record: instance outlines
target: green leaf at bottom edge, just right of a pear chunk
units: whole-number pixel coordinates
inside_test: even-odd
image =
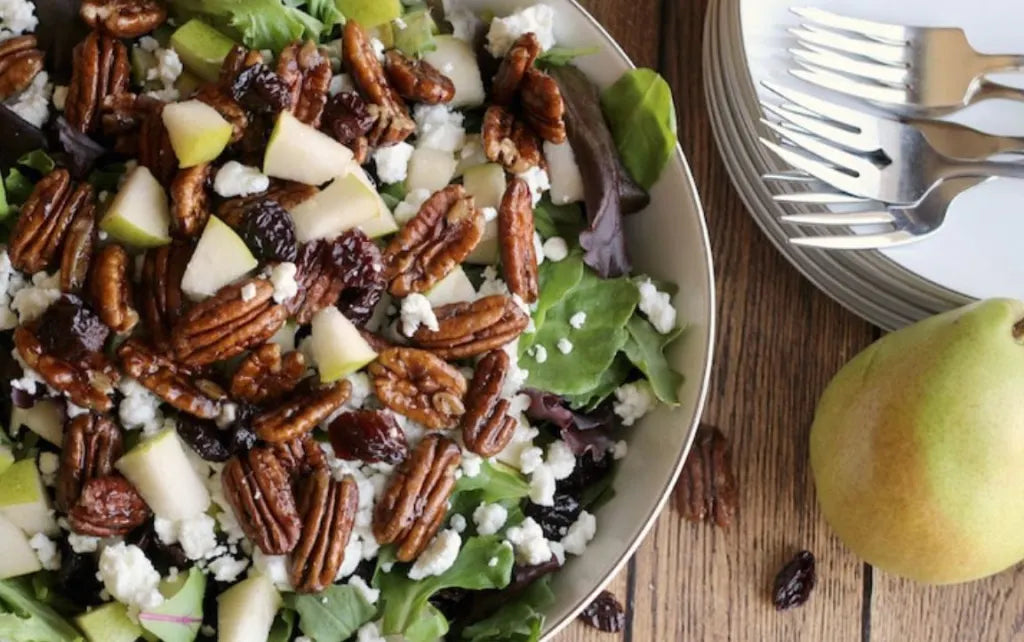
[[[362,594],[348,585],[333,585],[318,595],[289,594],[285,605],[299,613],[302,635],[317,642],[342,642],[377,614]]]

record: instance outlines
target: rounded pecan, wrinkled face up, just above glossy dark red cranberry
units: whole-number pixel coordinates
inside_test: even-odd
[[[370,376],[381,403],[427,428],[451,428],[466,412],[465,377],[425,350],[385,350],[370,365]]]

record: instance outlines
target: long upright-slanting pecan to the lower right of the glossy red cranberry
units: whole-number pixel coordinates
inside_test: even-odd
[[[433,433],[420,441],[391,478],[374,509],[373,528],[381,545],[398,545],[398,561],[419,557],[437,532],[461,461],[459,444]]]

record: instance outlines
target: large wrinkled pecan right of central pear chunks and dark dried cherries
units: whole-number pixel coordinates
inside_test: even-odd
[[[469,256],[483,237],[483,214],[462,185],[427,199],[384,251],[384,276],[396,297],[426,292]]]

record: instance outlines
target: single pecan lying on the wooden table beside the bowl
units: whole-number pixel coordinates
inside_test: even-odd
[[[714,521],[721,528],[736,513],[736,478],[729,441],[718,428],[701,425],[676,487],[679,510],[690,521]]]

